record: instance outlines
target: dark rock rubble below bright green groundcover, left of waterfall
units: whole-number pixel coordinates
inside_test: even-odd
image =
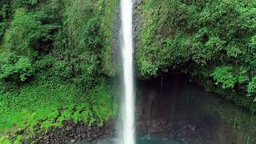
[[[54,128],[46,133],[38,132],[34,138],[30,138],[28,142],[24,143],[76,143],[94,142],[104,138],[111,138],[114,136],[114,122],[106,122],[104,126],[87,126],[83,122],[75,124],[72,121],[65,122],[60,128]]]

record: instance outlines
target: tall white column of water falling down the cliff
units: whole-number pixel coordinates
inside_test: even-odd
[[[122,103],[122,143],[134,144],[134,66],[133,0],[122,0],[122,66],[124,99]]]

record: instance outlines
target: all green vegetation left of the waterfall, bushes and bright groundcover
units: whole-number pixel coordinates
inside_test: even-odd
[[[29,139],[36,126],[46,131],[68,119],[102,126],[115,115],[106,75],[114,75],[116,5],[1,0],[0,143]]]

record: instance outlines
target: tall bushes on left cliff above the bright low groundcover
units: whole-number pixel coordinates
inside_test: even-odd
[[[95,78],[101,74],[114,75],[110,39],[113,39],[116,1],[2,3],[1,14],[6,21],[1,22],[1,30],[8,28],[2,32],[1,52],[14,53],[22,59],[27,57],[36,72],[44,73],[45,78],[72,79],[80,88],[94,86]],[[7,8],[11,9],[8,13],[12,14],[11,18],[6,16]],[[3,73],[10,76],[8,71]]]

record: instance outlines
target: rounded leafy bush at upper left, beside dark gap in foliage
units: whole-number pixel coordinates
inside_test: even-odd
[[[4,46],[15,54],[34,56],[33,52],[39,48],[37,43],[40,39],[46,41],[52,28],[42,25],[39,21],[41,17],[40,13],[29,13],[24,9],[18,9],[10,23],[10,29],[5,34]]]

